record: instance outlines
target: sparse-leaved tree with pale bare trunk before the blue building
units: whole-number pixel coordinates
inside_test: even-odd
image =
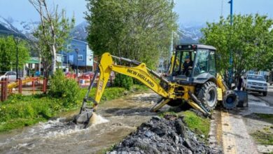
[[[57,52],[64,48],[64,43],[69,39],[75,19],[66,18],[65,10],[59,13],[58,6],[53,6],[50,11],[46,0],[29,0],[41,18],[41,25],[34,31],[38,38],[38,50],[45,69],[45,76],[56,70]]]

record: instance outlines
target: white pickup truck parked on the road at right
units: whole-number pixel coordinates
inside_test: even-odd
[[[267,95],[267,82],[264,76],[249,74],[244,77],[243,90],[259,92],[263,96]]]

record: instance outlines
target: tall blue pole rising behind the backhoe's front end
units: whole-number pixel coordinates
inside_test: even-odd
[[[230,41],[232,39],[232,16],[233,16],[233,0],[230,0],[228,3],[230,3]],[[230,76],[229,76],[229,85],[231,87],[232,84],[232,76],[233,76],[233,59],[232,59],[232,48],[230,45]]]

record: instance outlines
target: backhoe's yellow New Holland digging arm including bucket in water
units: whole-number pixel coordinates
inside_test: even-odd
[[[113,62],[113,58],[123,60],[130,64],[134,64],[135,66],[122,66],[115,64]],[[136,78],[141,83],[149,87],[151,90],[165,98],[166,100],[174,99],[174,85],[173,83],[169,83],[168,80],[160,76],[155,71],[148,69],[146,64],[137,62],[131,59],[126,59],[123,57],[116,57],[111,55],[109,52],[106,52],[102,55],[102,58],[99,62],[98,69],[94,74],[92,82],[90,83],[90,87],[88,88],[87,93],[85,94],[85,98],[83,99],[83,104],[80,109],[80,113],[75,117],[74,122],[76,124],[84,125],[87,127],[92,114],[97,109],[97,105],[102,99],[102,94],[105,90],[105,87],[108,83],[108,80],[111,75],[111,71],[115,71],[116,73],[122,73],[126,76],[131,76],[132,78]],[[92,86],[94,85],[94,80],[99,73],[99,80],[97,81],[97,91],[95,92],[94,99],[92,97],[88,97]],[[166,91],[160,83],[158,83],[158,78],[160,81],[167,83],[168,91]],[[87,102],[92,102],[92,106],[87,106]],[[167,102],[167,101],[165,101]]]

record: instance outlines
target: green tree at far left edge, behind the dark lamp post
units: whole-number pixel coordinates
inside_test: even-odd
[[[18,38],[20,39],[20,38]],[[29,45],[27,41],[18,41],[18,67],[22,69],[23,64],[29,60]],[[0,37],[0,70],[9,71],[16,68],[16,43],[13,36]]]

